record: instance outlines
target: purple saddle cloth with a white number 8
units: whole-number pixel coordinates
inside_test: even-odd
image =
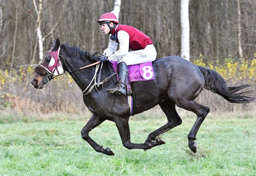
[[[110,63],[114,69],[114,72],[117,72],[118,71],[118,62],[111,61]],[[136,65],[129,65],[127,67],[129,70],[129,73],[128,73],[129,84],[133,81],[155,79],[152,62],[146,62],[146,63],[136,64]],[[119,79],[119,77],[118,77],[118,79]]]

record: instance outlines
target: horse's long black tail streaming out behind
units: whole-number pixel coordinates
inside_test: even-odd
[[[217,93],[227,101],[231,103],[249,103],[256,99],[255,91],[248,90],[238,92],[241,89],[252,87],[252,85],[228,87],[226,80],[216,71],[198,65],[197,67],[199,67],[204,76],[204,88]]]

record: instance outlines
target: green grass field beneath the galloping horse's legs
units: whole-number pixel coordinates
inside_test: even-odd
[[[96,152],[81,138],[86,120],[11,119],[0,123],[0,175],[256,175],[253,115],[206,118],[196,154],[187,139],[195,117],[182,117],[180,126],[162,136],[165,145],[147,151],[124,148],[114,123],[106,121],[90,136],[115,156]],[[132,117],[132,142],[143,143],[165,123],[166,118]]]

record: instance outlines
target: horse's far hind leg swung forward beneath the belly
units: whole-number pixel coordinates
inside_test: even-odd
[[[175,103],[168,99],[162,103],[159,104],[160,108],[162,109],[162,111],[164,111],[164,113],[166,114],[167,117],[167,124],[165,124],[164,126],[161,126],[160,128],[158,128],[157,130],[155,130],[154,132],[150,133],[145,141],[146,142],[152,142],[152,141],[162,141],[160,138],[157,138],[157,136],[164,134],[165,132],[171,130],[172,128],[180,125],[182,123],[182,120],[180,119],[180,116],[178,115],[176,109],[175,109]],[[164,143],[162,141],[162,143]]]

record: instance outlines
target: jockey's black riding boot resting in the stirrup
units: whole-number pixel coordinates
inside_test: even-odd
[[[126,79],[128,75],[128,68],[125,62],[118,63],[118,71],[119,71],[119,81],[118,86],[112,89],[107,89],[107,92],[109,93],[118,93],[119,95],[125,95],[125,85],[126,85]]]

